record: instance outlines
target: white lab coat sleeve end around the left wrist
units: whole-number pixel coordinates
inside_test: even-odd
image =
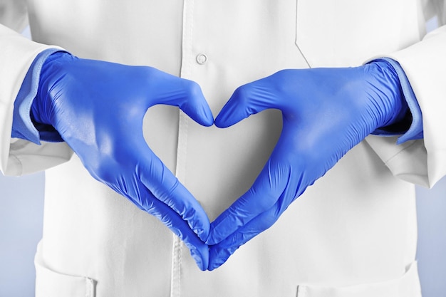
[[[1,21],[1,20],[0,20]],[[14,100],[36,56],[48,48],[29,41],[0,24],[0,169],[4,174],[21,175],[44,170],[69,160],[72,152],[66,143],[42,142],[11,137]]]

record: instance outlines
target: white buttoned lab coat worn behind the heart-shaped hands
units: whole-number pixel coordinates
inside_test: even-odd
[[[22,4],[0,1],[11,28],[26,24]],[[411,182],[431,186],[446,173],[446,28],[419,42],[422,6],[431,4],[441,1],[29,0],[38,43],[0,28],[0,165],[24,174],[63,163],[46,172],[36,295],[420,296]],[[271,229],[203,272],[165,226],[96,182],[65,144],[10,139],[14,98],[46,45],[195,80],[214,115],[239,85],[280,69],[388,56],[415,90],[425,138],[368,137]],[[145,119],[150,147],[211,220],[249,188],[280,130],[274,110],[224,130],[166,106]]]

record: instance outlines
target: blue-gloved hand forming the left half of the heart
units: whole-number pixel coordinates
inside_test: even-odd
[[[31,116],[54,127],[95,179],[180,236],[205,270],[207,214],[142,134],[143,117],[156,104],[176,105],[201,125],[214,121],[199,86],[190,80],[59,52],[43,64]]]

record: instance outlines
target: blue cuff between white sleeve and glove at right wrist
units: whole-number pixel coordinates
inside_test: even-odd
[[[390,132],[389,130],[385,130],[383,128],[377,129],[373,132],[374,135],[379,136],[395,136],[401,135],[398,137],[397,144],[400,145],[403,142],[408,140],[417,140],[423,137],[423,129],[422,129],[422,114],[420,105],[418,105],[418,100],[415,97],[415,93],[413,93],[413,89],[409,83],[408,77],[405,75],[403,68],[401,68],[400,63],[391,59],[391,58],[379,58],[374,61],[385,61],[390,64],[395,69],[395,72],[398,75],[398,79],[400,80],[401,89],[403,90],[403,95],[408,103],[408,107],[410,113],[406,115],[406,117],[411,120],[410,127],[405,132]]]

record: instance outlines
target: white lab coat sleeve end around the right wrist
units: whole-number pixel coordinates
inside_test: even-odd
[[[386,55],[400,63],[422,111],[424,138],[396,145],[396,137],[370,135],[368,144],[396,177],[432,187],[446,175],[446,26],[413,46]]]

